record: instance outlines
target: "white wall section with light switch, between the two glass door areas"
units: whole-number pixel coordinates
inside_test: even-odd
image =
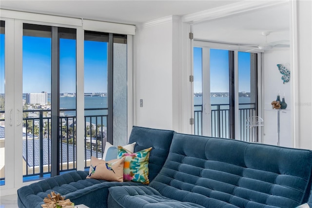
[[[135,125],[173,128],[172,34],[172,21],[149,22],[137,28]]]

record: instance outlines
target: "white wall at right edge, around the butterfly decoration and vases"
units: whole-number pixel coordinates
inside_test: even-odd
[[[274,52],[266,52],[264,55],[264,108],[270,106],[270,101],[276,99],[277,90],[281,95],[285,91],[287,109],[289,111],[281,113],[281,146],[293,146],[291,139],[292,123],[296,125],[294,142],[295,147],[312,149],[312,1],[296,1],[296,25],[297,30],[297,68],[291,69],[291,83],[283,85],[280,80],[280,74],[275,67],[275,63],[290,63],[290,54],[285,51],[279,55]],[[294,73],[297,74],[296,82],[293,85],[295,93],[294,101],[290,100],[292,82]],[[277,83],[275,83],[277,81]],[[275,87],[274,87],[275,86]],[[294,104],[295,106],[292,106]],[[291,114],[294,113],[292,117]],[[276,133],[276,116],[272,111],[264,111],[264,143],[275,144],[273,138],[277,137]],[[292,121],[292,119],[294,121]]]

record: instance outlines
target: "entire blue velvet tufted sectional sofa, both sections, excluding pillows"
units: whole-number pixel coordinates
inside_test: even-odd
[[[52,190],[90,208],[295,208],[312,206],[312,151],[134,126],[135,151],[153,147],[149,179],[107,182],[85,171],[21,187],[21,208]]]

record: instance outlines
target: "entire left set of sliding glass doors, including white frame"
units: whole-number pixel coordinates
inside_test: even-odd
[[[106,141],[127,143],[135,34],[129,25],[16,13],[0,21],[0,186],[15,191],[85,169]],[[131,35],[105,33],[111,25]]]

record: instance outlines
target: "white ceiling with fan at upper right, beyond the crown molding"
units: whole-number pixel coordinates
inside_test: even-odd
[[[240,13],[194,25],[194,38],[212,42],[261,44],[290,40],[289,3]]]

